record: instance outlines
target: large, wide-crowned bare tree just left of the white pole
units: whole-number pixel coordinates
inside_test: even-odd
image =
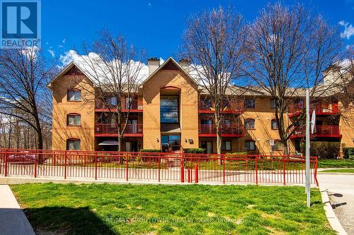
[[[295,97],[311,88],[312,100],[333,88],[324,85],[330,66],[341,51],[338,30],[321,16],[311,16],[303,6],[268,5],[249,27],[248,59],[244,67],[255,85],[275,100],[275,120],[280,140],[288,154],[287,140],[295,131],[300,115],[290,125],[285,116]]]

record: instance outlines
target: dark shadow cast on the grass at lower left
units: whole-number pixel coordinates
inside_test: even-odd
[[[115,234],[89,207],[40,207],[23,211],[37,234]]]

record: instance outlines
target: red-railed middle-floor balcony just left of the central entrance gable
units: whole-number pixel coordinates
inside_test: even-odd
[[[118,126],[110,123],[96,123],[95,136],[118,136]],[[142,137],[142,124],[127,124],[123,136]]]

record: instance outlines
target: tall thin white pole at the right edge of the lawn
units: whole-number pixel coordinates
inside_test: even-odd
[[[306,90],[306,192],[307,192],[307,207],[310,207],[310,116],[309,116],[309,90]]]

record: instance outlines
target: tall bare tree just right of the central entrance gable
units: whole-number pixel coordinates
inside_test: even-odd
[[[246,34],[242,17],[222,7],[192,16],[183,35],[181,57],[190,61],[195,80],[215,108],[217,153],[222,147],[222,111],[239,89],[229,89],[240,75]]]

